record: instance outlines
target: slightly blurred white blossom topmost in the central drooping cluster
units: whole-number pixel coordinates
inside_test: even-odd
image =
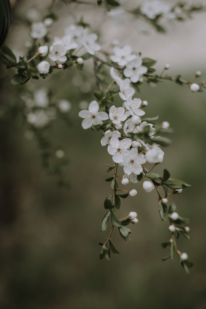
[[[115,46],[113,48],[114,55],[111,55],[110,59],[113,62],[117,62],[119,66],[125,66],[129,61],[136,58],[136,55],[132,54],[133,50],[130,45],[124,45],[123,48]]]

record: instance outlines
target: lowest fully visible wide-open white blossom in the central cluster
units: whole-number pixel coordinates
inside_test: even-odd
[[[127,175],[132,172],[136,175],[140,175],[143,171],[141,164],[145,163],[146,159],[144,155],[138,155],[138,149],[132,148],[128,153],[124,154],[122,164],[123,169]]]

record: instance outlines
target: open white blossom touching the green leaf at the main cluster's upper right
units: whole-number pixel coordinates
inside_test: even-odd
[[[123,73],[124,76],[129,77],[132,83],[137,83],[140,77],[147,73],[148,68],[146,66],[142,66],[142,59],[140,57],[136,57],[135,60],[129,61],[126,64],[126,68]]]

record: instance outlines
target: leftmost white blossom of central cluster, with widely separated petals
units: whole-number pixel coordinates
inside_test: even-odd
[[[99,112],[99,104],[97,101],[92,101],[89,104],[89,110],[83,110],[79,112],[79,117],[84,118],[82,121],[82,128],[89,129],[93,125],[102,124],[103,120],[108,119],[108,115],[105,112]]]

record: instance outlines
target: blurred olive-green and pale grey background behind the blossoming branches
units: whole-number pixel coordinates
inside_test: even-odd
[[[128,6],[138,3],[131,1]],[[27,10],[35,8],[41,13],[49,5],[49,1],[21,0],[13,6],[6,44],[17,57],[27,53],[25,42],[30,40],[23,21]],[[156,59],[158,73],[169,62],[171,75],[182,74],[189,80],[201,70],[200,80],[206,78],[206,13],[168,25],[166,35],[152,29],[142,35],[136,21],[114,23],[104,8],[74,5],[72,9],[98,33],[104,50],[111,52],[111,41],[119,39],[143,57]],[[59,20],[50,28],[52,40],[74,23],[64,3],[57,2],[54,11]],[[186,86],[166,81],[157,87],[144,84],[137,94],[149,102],[146,116],[159,115],[160,123],[169,121],[175,129],[172,145],[163,149],[164,161],[155,171],[162,174],[167,168],[172,178],[192,185],[169,199],[181,216],[191,218],[191,240],[178,239],[178,248],[194,261],[190,275],[178,266],[177,258],[162,262],[168,255],[167,248],[160,246],[170,237],[168,223],[159,217],[156,192],[143,192],[141,184],[123,188],[135,188],[138,194],[121,200],[119,211],[120,218],[129,211],[138,213],[139,222],[131,226],[132,241],[125,243],[114,231],[112,240],[120,255],[100,261],[98,242],[104,242],[108,234],[99,228],[105,213],[103,201],[111,193],[104,179],[106,164],[112,160],[100,144],[101,133],[83,130],[78,118],[79,110],[94,99],[93,90],[97,90],[92,69],[92,61],[87,61],[81,72],[72,68],[46,80],[13,86],[15,69],[6,71],[1,66],[0,308],[205,309],[205,91],[192,93]],[[45,129],[55,149],[65,152],[68,165],[63,168],[69,188],[59,188],[55,177],[43,169],[37,139],[28,133],[22,115],[22,97],[42,87],[54,101],[66,99],[72,105],[66,119],[57,117]],[[122,101],[116,99],[115,104],[120,106]]]

